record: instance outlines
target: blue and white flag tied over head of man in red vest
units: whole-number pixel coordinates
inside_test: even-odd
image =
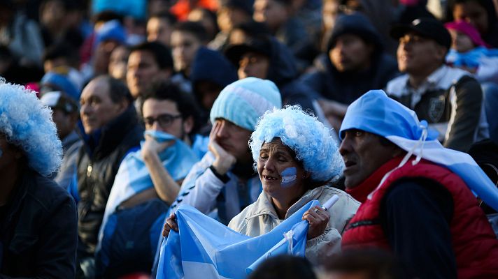
[[[344,116],[339,137],[346,130],[358,129],[385,137],[408,153],[401,165],[414,155],[447,167],[460,176],[483,201],[498,210],[498,189],[467,153],[444,148],[437,133],[427,129],[413,110],[389,98],[382,90],[371,90],[353,102]]]

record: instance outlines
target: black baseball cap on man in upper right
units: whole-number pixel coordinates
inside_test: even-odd
[[[408,32],[418,33],[424,38],[435,40],[436,43],[450,48],[451,36],[444,25],[433,18],[418,18],[410,24],[395,24],[390,31],[392,38],[398,40]]]

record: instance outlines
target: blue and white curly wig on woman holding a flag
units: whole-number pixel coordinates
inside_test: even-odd
[[[343,160],[330,130],[315,116],[297,105],[266,112],[259,119],[249,141],[252,158],[257,161],[265,142],[279,137],[311,174],[313,181],[325,182],[341,174]]]

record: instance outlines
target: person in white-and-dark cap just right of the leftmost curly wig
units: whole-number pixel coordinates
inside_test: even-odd
[[[78,103],[63,91],[45,93],[40,101],[52,109],[52,120],[62,141],[62,165],[51,178],[64,189],[76,188],[76,156],[83,144],[76,133],[76,123],[79,120]]]

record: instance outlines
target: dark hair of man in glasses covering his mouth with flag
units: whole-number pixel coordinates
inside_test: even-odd
[[[199,130],[201,126],[200,111],[194,100],[194,96],[182,91],[178,85],[171,82],[160,82],[157,84],[150,93],[145,94],[141,99],[141,112],[143,112],[143,103],[148,99],[170,100],[175,103],[176,107],[178,107],[178,111],[182,115],[182,119],[187,119],[192,116],[192,119],[194,120],[194,127],[192,128],[190,135],[197,133],[197,130]]]

